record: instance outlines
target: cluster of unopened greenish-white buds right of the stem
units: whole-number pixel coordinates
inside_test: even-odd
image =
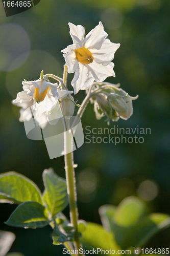
[[[94,112],[96,119],[101,119],[103,116],[109,120],[117,121],[119,118],[127,120],[133,114],[132,100],[137,99],[131,97],[124,90],[119,88],[120,84],[112,83],[96,83],[92,84],[90,90],[90,102],[94,104]]]

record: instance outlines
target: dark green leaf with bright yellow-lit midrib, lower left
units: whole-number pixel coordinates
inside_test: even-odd
[[[5,224],[13,227],[37,228],[48,225],[47,209],[37,202],[24,202],[12,212]]]

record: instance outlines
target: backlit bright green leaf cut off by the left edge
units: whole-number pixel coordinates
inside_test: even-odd
[[[27,177],[16,172],[0,175],[0,202],[21,204],[35,201],[43,204],[41,191],[37,185]]]

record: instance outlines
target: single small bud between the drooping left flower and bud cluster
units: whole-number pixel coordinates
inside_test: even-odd
[[[72,96],[70,96],[72,98]],[[70,100],[69,96],[66,96],[64,99],[61,99],[60,108],[63,116],[66,119],[69,119],[75,112],[75,103]]]

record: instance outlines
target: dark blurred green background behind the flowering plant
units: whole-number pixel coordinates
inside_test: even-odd
[[[151,134],[143,135],[141,144],[84,143],[75,152],[79,218],[101,223],[101,205],[118,205],[131,195],[143,199],[149,212],[170,214],[169,0],[41,0],[34,8],[10,17],[5,16],[2,5],[0,8],[0,172],[15,170],[32,179],[42,191],[43,169],[53,167],[65,177],[64,158],[50,160],[44,141],[27,139],[23,123],[18,121],[19,108],[11,100],[22,90],[22,80],[38,79],[42,69],[44,74],[62,76],[64,58],[60,51],[72,44],[68,22],[84,26],[87,34],[101,21],[108,38],[120,43],[113,60],[116,77],[107,81],[119,82],[131,96],[139,94],[133,101],[132,117],[111,122],[109,128],[118,125],[135,129],[138,125],[150,127]],[[15,29],[17,33],[12,33]],[[3,50],[6,41],[7,52]],[[17,49],[22,55],[16,59],[17,53],[12,56],[9,49]],[[72,77],[68,75],[69,90]],[[81,104],[84,97],[81,91],[75,100]],[[87,125],[91,129],[107,127],[105,117],[95,119],[90,103],[82,124],[84,132]],[[63,247],[52,245],[50,227],[33,230],[4,224],[15,207],[0,204],[0,229],[16,234],[11,251],[26,256],[62,255]],[[69,217],[68,207],[64,214]],[[167,229],[146,247],[169,248],[169,238]]]

